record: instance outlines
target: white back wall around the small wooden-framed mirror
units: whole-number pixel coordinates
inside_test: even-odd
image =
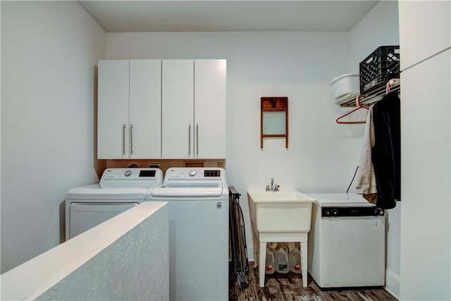
[[[361,140],[363,127],[335,123],[346,109],[334,104],[328,86],[349,73],[347,32],[108,33],[106,40],[107,59],[228,60],[226,170],[228,184],[242,194],[251,247],[247,188],[264,188],[273,177],[282,190],[347,189],[361,145],[352,141]],[[260,149],[264,96],[289,99],[288,149],[281,139],[265,139]]]

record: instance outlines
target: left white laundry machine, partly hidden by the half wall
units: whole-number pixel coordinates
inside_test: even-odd
[[[66,193],[66,240],[144,202],[163,183],[159,168],[107,168],[98,184]]]

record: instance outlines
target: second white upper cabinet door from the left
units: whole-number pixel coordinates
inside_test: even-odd
[[[130,60],[130,158],[161,158],[161,61]]]

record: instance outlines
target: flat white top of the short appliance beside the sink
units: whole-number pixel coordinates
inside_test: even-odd
[[[375,207],[363,195],[356,193],[306,193],[321,207]]]

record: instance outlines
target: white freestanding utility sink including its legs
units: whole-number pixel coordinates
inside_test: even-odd
[[[254,237],[254,262],[259,263],[259,285],[264,286],[266,243],[300,242],[302,286],[307,287],[307,233],[311,226],[311,204],[301,192],[247,190]]]

